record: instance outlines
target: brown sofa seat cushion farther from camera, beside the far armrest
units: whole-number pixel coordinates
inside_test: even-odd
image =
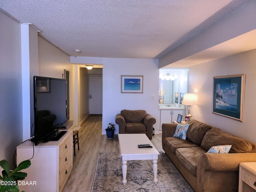
[[[168,147],[173,153],[175,153],[176,149],[180,147],[198,147],[196,144],[189,140],[183,140],[177,137],[165,137],[163,142],[164,145]]]

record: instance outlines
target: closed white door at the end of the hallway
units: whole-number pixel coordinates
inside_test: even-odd
[[[102,114],[102,75],[89,75],[89,114]]]

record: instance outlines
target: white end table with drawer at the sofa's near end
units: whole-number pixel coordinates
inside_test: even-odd
[[[239,164],[238,192],[256,192],[256,162]]]

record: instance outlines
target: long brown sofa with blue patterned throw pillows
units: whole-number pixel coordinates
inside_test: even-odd
[[[240,162],[256,162],[256,144],[190,120],[186,140],[172,137],[177,124],[162,124],[162,147],[196,192],[237,192]],[[232,145],[228,154],[206,153]]]

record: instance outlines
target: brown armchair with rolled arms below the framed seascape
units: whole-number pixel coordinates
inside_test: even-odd
[[[153,125],[156,119],[145,110],[122,110],[116,115],[116,124],[119,125],[119,133],[145,133],[152,139]]]

